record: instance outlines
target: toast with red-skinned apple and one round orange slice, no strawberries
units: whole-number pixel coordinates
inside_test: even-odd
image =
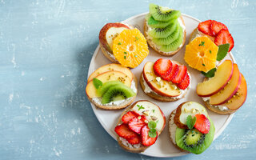
[[[99,35],[102,53],[111,62],[135,68],[149,54],[146,38],[136,28],[116,23],[107,23]]]

